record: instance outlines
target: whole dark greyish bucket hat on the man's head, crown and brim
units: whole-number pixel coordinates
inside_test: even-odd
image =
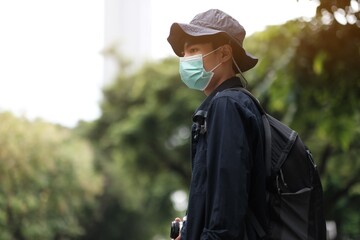
[[[167,38],[175,54],[182,56],[185,40],[189,37],[223,35],[230,40],[236,64],[242,72],[253,68],[258,59],[245,51],[245,29],[230,15],[218,9],[210,9],[196,15],[189,24],[173,23]]]

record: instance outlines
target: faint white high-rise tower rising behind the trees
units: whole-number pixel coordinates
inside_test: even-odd
[[[151,54],[151,1],[105,0],[104,44],[140,66]],[[104,59],[104,82],[119,71],[114,59]]]

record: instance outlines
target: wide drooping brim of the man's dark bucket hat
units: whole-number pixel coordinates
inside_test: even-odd
[[[258,59],[246,52],[242,47],[242,44],[235,38],[230,36],[224,31],[205,28],[193,24],[184,23],[173,23],[170,28],[170,34],[168,42],[170,43],[175,54],[179,57],[182,56],[184,51],[184,44],[186,39],[189,37],[200,37],[200,36],[212,36],[212,35],[224,35],[231,40],[231,46],[233,48],[234,59],[242,72],[245,72],[253,67],[258,62]]]

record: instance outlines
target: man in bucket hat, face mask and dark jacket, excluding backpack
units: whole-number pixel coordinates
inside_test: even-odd
[[[248,221],[249,209],[266,226],[261,114],[236,89],[245,87],[242,72],[257,63],[244,50],[244,38],[244,28],[217,9],[170,28],[168,42],[180,57],[182,81],[207,96],[193,116],[189,204],[177,239],[260,239]]]

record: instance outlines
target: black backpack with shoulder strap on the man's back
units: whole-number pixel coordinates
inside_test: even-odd
[[[323,190],[309,149],[294,130],[267,114],[249,91],[236,89],[256,103],[266,138],[269,223],[263,228],[249,210],[250,222],[262,239],[326,240]]]

